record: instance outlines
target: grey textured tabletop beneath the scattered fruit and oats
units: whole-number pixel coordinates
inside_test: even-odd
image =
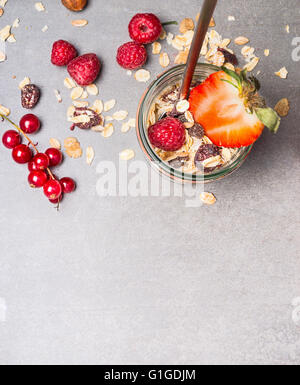
[[[17,43],[7,45],[8,60],[0,64],[0,103],[18,121],[19,81],[30,76],[41,86],[35,113],[43,121],[38,141],[45,148],[50,137],[70,135],[66,72],[49,61],[53,41],[65,38],[82,53],[99,54],[101,98],[116,97],[134,116],[144,85],[114,59],[128,40],[128,20],[137,11],[181,20],[202,2],[91,0],[80,15],[89,20],[84,29],[71,26],[77,16],[60,1],[43,0],[46,13],[36,12],[34,3],[9,0],[0,19],[0,27],[21,19]],[[218,203],[197,209],[185,208],[180,198],[97,195],[100,160],[117,161],[124,148],[143,159],[134,131],[107,140],[75,133],[84,147],[93,144],[97,158],[91,168],[84,159],[67,159],[57,170],[78,182],[59,213],[28,188],[26,168],[1,148],[0,297],[7,313],[0,322],[0,363],[300,363],[291,304],[300,296],[300,64],[291,59],[292,38],[300,36],[299,1],[219,3],[216,29],[224,37],[245,35],[258,48],[270,104],[290,99],[280,132],[266,131],[238,173],[209,186]],[[174,57],[173,49],[168,52]],[[288,80],[274,76],[284,65]],[[161,71],[153,59],[148,68],[152,75]],[[62,92],[62,105],[54,88]],[[1,124],[2,131],[6,127]]]

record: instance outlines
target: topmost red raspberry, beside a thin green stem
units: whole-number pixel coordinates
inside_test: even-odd
[[[131,39],[136,43],[150,44],[159,38],[162,25],[153,13],[139,13],[130,21],[128,30]]]

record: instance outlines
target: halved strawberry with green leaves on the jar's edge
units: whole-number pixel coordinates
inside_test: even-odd
[[[265,125],[276,132],[280,124],[257,88],[257,80],[247,79],[245,72],[224,69],[191,91],[190,111],[215,145],[249,146],[260,137]]]

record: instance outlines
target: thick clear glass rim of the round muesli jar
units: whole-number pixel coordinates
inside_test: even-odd
[[[155,167],[160,173],[180,183],[213,182],[222,179],[237,170],[243,164],[253,146],[240,148],[236,155],[228,163],[218,169],[209,173],[194,174],[176,170],[168,163],[160,159],[148,139],[147,131],[149,113],[153,103],[165,89],[181,82],[184,69],[184,65],[171,68],[161,74],[145,91],[137,112],[137,137],[146,158],[150,161],[151,166]],[[209,75],[216,71],[220,71],[220,68],[210,64],[199,63],[195,70],[193,83],[203,82]]]

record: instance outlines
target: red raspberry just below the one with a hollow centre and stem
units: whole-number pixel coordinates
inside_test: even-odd
[[[146,48],[139,43],[126,43],[118,49],[117,62],[127,70],[135,70],[142,67],[147,61]]]

